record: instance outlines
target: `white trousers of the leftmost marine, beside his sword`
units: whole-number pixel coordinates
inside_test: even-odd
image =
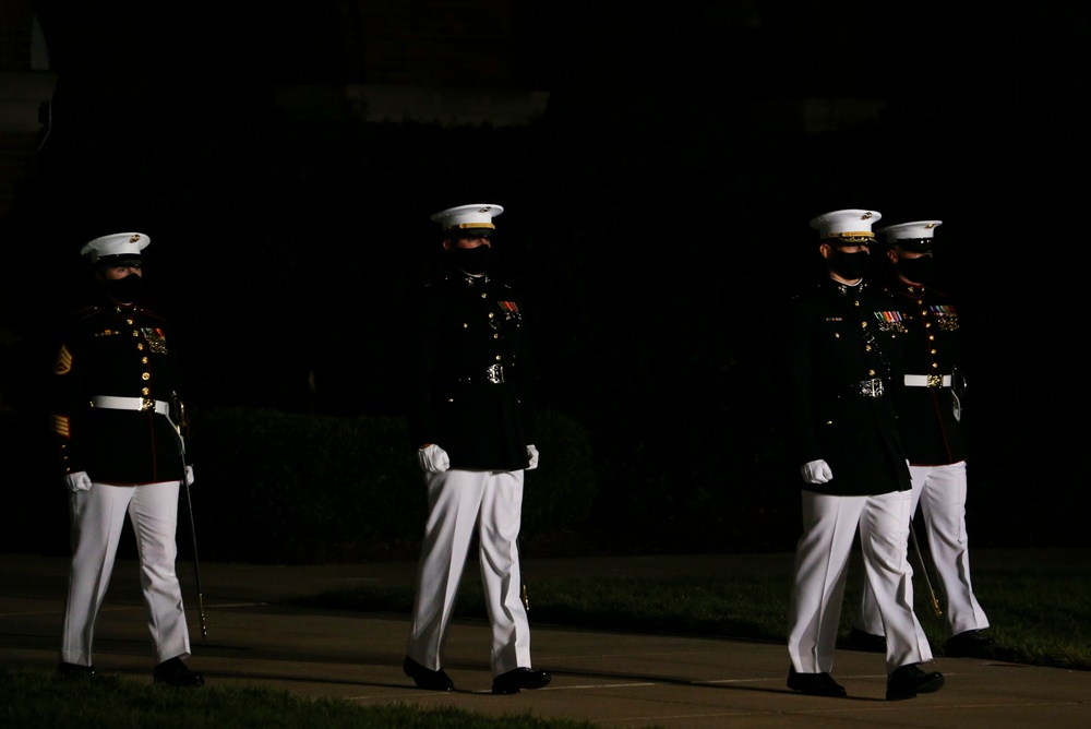
[[[178,489],[178,481],[142,486],[92,482],[89,490],[69,494],[72,567],[62,662],[92,665],[95,621],[110,585],[127,513],[136,536],[140,583],[156,662],[189,657],[182,589],[175,574]]]

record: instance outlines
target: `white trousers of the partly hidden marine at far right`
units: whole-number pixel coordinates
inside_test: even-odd
[[[913,476],[913,513],[920,505],[928,552],[945,602],[947,637],[988,628],[970,584],[970,547],[966,533],[966,462],[949,466],[910,466]],[[883,622],[870,585],[864,586],[856,616],[860,630],[883,635]]]

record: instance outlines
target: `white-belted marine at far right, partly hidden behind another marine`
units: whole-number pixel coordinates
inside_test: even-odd
[[[967,440],[956,394],[960,369],[958,310],[928,283],[932,246],[942,220],[915,220],[880,228],[888,247],[892,280],[886,286],[906,327],[904,387],[898,413],[913,481],[912,513],[923,516],[928,552],[945,602],[946,656],[990,658],[993,638],[970,578],[966,527]],[[854,642],[882,646],[885,631],[873,590],[865,586],[853,624]]]

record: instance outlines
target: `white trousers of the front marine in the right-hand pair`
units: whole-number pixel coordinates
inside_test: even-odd
[[[828,673],[841,617],[849,554],[859,528],[867,581],[887,635],[886,669],[932,660],[913,613],[913,571],[906,559],[911,492],[835,497],[802,491],[803,535],[788,610],[788,653],[800,673]]]

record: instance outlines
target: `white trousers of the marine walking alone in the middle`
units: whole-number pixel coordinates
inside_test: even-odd
[[[430,511],[407,653],[429,670],[443,666],[447,626],[475,527],[492,624],[492,673],[531,667],[530,625],[519,595],[523,476],[521,470],[459,469],[424,475]]]

